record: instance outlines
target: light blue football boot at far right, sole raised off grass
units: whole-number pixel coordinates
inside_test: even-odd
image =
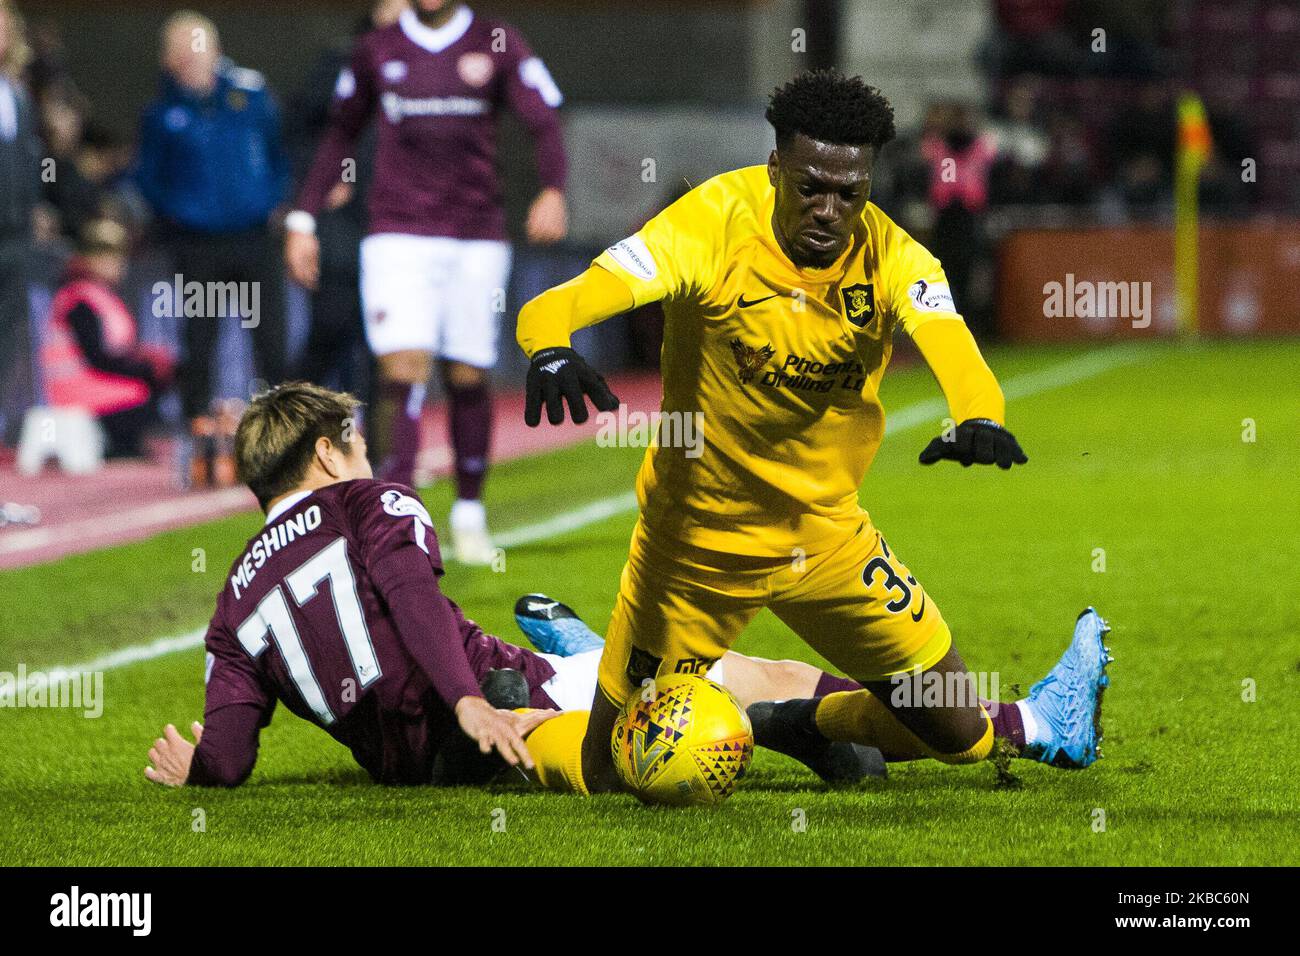
[[[1101,756],[1101,696],[1110,684],[1106,665],[1110,626],[1088,607],[1074,624],[1074,640],[1048,675],[1030,688],[1026,704],[1045,743],[1022,756],[1054,767],[1080,770]]]

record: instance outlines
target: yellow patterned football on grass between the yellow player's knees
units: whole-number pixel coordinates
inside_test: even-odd
[[[722,803],[754,756],[754,731],[731,691],[694,674],[644,687],[624,706],[610,743],[633,793],[676,806]]]

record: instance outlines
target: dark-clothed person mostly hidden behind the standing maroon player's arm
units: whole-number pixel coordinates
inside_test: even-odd
[[[302,183],[311,169],[321,138],[329,129],[334,92],[344,79],[352,44],[370,30],[390,26],[407,0],[378,0],[361,17],[346,43],[321,51],[308,79],[289,103],[285,133],[294,178]],[[321,243],[320,284],[312,290],[312,321],[295,378],[341,389],[356,395],[369,390],[370,350],[361,321],[361,239],[365,237],[365,200],[374,164],[373,125],[356,148],[352,182],[330,187],[325,208],[316,216]],[[373,402],[372,402],[373,407]]]

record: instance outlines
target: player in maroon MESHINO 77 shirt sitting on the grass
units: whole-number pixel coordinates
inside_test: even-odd
[[[585,726],[599,650],[540,654],[467,619],[438,587],[442,561],[424,505],[410,488],[370,477],[356,408],[351,395],[307,382],[250,403],[235,458],[266,523],[231,566],[208,627],[198,747],[169,724],[146,775],[170,786],[243,783],[282,702],[382,783],[482,782],[502,763],[493,758],[481,773],[477,749],[536,769],[543,786],[582,790],[582,732],[562,724]],[[727,654],[718,666],[725,676],[715,679],[742,704],[842,682],[794,661]],[[485,696],[503,675],[516,679],[511,709]],[[835,744],[801,758],[842,782],[872,771],[866,750]]]

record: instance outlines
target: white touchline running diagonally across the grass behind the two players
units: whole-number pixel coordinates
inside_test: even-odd
[[[1092,351],[1086,355],[1066,359],[1065,362],[1037,372],[1027,372],[1014,378],[1009,378],[1002,382],[1002,393],[1008,398],[1028,398],[1030,395],[1050,392],[1052,389],[1058,389],[1065,385],[1074,385],[1080,381],[1087,381],[1088,378],[1095,378],[1098,375],[1104,375],[1114,368],[1121,368],[1139,362],[1145,355],[1147,351],[1136,346],[1115,346],[1113,349]],[[946,411],[948,406],[942,402],[942,399],[927,399],[924,402],[905,406],[889,416],[885,433],[897,434],[898,432],[905,432],[924,424],[933,424],[936,420],[941,419]],[[582,505],[581,507],[573,509],[572,511],[564,511],[554,518],[546,519],[545,522],[537,522],[534,524],[525,524],[519,528],[503,531],[493,537],[500,548],[516,548],[520,545],[533,544],[534,541],[545,541],[560,535],[567,535],[590,524],[603,522],[607,518],[627,514],[628,511],[636,511],[636,496],[630,492],[624,492],[623,494],[615,494],[608,498],[599,498]],[[69,675],[116,670],[118,667],[139,663],[140,661],[152,661],[159,657],[165,657],[166,654],[174,654],[181,650],[192,650],[194,648],[203,646],[203,637],[205,633],[207,627],[202,627],[196,631],[190,631],[174,637],[160,637],[150,644],[135,644],[129,648],[122,648],[121,650],[104,654],[103,657],[98,657],[87,663],[52,667],[44,672],[48,675]],[[26,685],[27,680],[18,687],[17,693],[26,693]]]

